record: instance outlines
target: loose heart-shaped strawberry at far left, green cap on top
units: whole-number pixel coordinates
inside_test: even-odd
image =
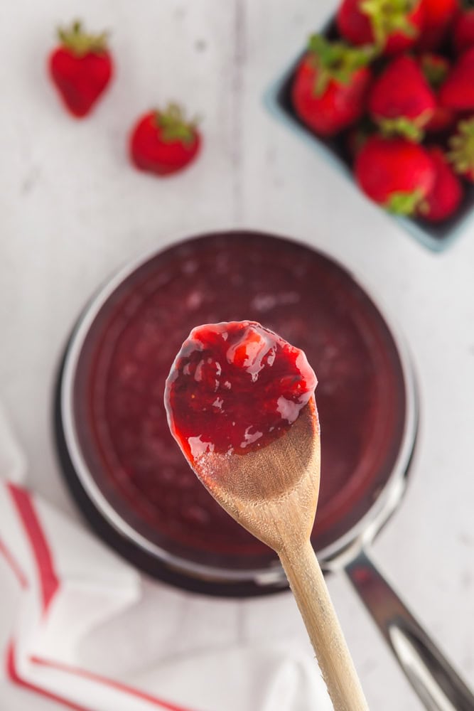
[[[60,46],[49,57],[50,75],[66,107],[80,118],[90,112],[112,77],[107,34],[87,34],[76,21],[58,36]]]

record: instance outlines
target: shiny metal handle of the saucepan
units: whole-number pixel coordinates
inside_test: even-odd
[[[429,711],[474,711],[474,696],[365,552],[345,568]]]

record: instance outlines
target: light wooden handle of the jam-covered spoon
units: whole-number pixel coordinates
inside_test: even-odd
[[[311,542],[279,556],[335,711],[369,711]]]

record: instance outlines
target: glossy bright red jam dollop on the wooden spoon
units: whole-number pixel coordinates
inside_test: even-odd
[[[303,351],[256,321],[198,326],[166,381],[170,429],[191,462],[245,454],[289,429],[316,382]]]

